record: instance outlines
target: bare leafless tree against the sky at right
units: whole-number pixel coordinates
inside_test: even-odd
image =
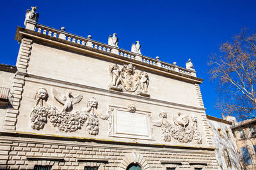
[[[223,115],[256,118],[256,32],[243,29],[210,57],[211,80],[217,81],[216,107]]]

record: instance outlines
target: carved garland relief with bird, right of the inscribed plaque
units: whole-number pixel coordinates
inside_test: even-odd
[[[171,141],[172,138],[180,141],[181,143],[189,143],[194,141],[202,144],[202,136],[197,129],[197,118],[193,115],[185,115],[177,113],[173,116],[171,121],[168,122],[167,114],[161,111],[159,114],[161,120],[154,122],[154,126],[161,127],[162,138],[164,141]]]

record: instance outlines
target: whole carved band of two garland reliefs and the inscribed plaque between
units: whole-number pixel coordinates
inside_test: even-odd
[[[109,106],[107,113],[101,114],[97,111],[98,101],[95,97],[90,97],[87,106],[80,110],[74,108],[83,99],[81,94],[74,97],[70,91],[61,93],[52,89],[52,98],[60,103],[59,108],[47,103],[48,97],[46,89],[37,90],[35,106],[30,114],[32,129],[44,129],[49,121],[59,131],[75,132],[85,126],[88,134],[97,135],[99,119],[102,119],[108,120],[108,136],[154,140],[153,127],[159,127],[165,142],[175,139],[180,143],[202,144],[195,115],[177,113],[168,120],[166,112],[161,111],[160,119],[154,121],[151,112],[137,110],[135,104],[131,103],[126,108]]]

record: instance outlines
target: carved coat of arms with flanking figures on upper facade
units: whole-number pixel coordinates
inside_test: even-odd
[[[138,73],[132,64],[124,64],[122,69],[117,64],[109,67],[111,82],[108,89],[129,92],[141,96],[149,96],[149,78],[145,71]]]

